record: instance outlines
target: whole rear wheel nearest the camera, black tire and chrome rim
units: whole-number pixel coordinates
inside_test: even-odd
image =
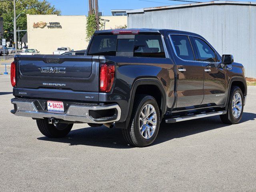
[[[145,147],[154,142],[160,125],[160,111],[154,97],[137,95],[132,109],[131,122],[127,129],[122,129],[128,144]]]

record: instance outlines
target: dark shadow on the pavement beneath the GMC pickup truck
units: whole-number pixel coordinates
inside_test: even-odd
[[[244,112],[241,123],[255,119],[256,114]],[[178,122],[175,124],[162,123],[158,136],[152,145],[160,144],[174,138],[182,138],[228,126],[232,125],[223,124],[218,116]],[[120,129],[109,129],[105,126],[71,130],[65,138],[40,137],[38,140],[68,143],[70,146],[87,145],[106,148],[132,148],[132,146],[129,146],[122,138]]]

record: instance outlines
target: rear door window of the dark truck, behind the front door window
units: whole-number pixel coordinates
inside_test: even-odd
[[[188,39],[188,36],[171,35],[171,37],[176,54],[179,58],[191,61],[195,60],[194,52],[192,50],[192,46],[190,40]]]

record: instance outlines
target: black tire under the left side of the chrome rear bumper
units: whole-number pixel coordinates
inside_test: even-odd
[[[73,124],[58,123],[48,124],[48,119],[36,120],[36,124],[40,132],[50,138],[65,137],[72,129]]]

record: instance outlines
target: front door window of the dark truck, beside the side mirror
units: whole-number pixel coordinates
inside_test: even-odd
[[[202,39],[193,37],[200,61],[217,62],[214,50]]]

